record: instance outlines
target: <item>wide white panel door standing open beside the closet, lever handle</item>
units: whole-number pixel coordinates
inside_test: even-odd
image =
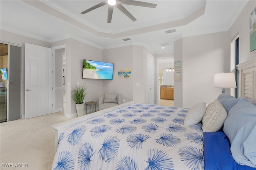
[[[52,112],[52,49],[25,43],[25,119]]]

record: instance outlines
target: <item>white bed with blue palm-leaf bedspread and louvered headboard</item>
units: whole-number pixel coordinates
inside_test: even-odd
[[[242,80],[240,95],[255,99],[256,59],[238,65],[238,68]],[[205,106],[204,111],[202,107],[200,111],[196,110],[198,105],[186,109],[128,102],[53,125],[56,130],[56,155],[52,169],[255,169],[254,160],[252,163],[249,161],[249,166],[247,163],[238,164],[234,161],[230,153],[232,140],[229,140],[230,136],[226,136],[222,130],[223,124],[225,130],[230,130],[228,126],[233,118],[228,116],[227,121],[226,117],[229,112],[236,112],[232,108],[238,107],[240,99],[220,95],[216,100],[218,101],[210,103],[207,109]],[[230,100],[232,102],[229,102]],[[247,99],[241,101],[247,102],[251,108],[250,112],[254,112],[255,106]],[[210,108],[215,107],[216,102],[220,103],[226,117],[222,124],[218,125],[220,127],[217,127],[217,130],[220,130],[217,132],[204,131],[207,125],[205,120],[210,117],[207,114],[216,112],[216,109],[213,112]],[[228,111],[227,105],[232,105]],[[201,121],[184,125],[186,116],[191,116],[195,110],[203,113]],[[214,119],[216,117],[211,116]],[[212,122],[213,120],[210,124]],[[255,125],[254,120],[251,123]],[[231,124],[233,126],[232,122]],[[236,127],[231,130],[234,128]],[[222,139],[216,140],[219,138],[224,138],[223,141],[226,142],[221,145]],[[221,150],[213,153],[217,149],[212,145]],[[214,150],[211,150],[212,148]],[[230,160],[232,162],[228,162]]]

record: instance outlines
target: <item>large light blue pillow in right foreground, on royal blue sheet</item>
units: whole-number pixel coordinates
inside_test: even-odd
[[[231,142],[234,160],[256,168],[256,106],[245,98],[240,99],[230,109],[223,131]]]

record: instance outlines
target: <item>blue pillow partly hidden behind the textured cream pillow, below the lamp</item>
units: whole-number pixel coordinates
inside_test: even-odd
[[[220,103],[224,106],[227,113],[230,111],[230,109],[236,105],[236,103],[239,101],[239,99],[236,99],[236,97],[230,96],[226,93],[221,93],[217,99],[219,99]]]

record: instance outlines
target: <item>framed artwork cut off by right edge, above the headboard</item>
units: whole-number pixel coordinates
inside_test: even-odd
[[[256,49],[256,7],[250,13],[250,52]]]

